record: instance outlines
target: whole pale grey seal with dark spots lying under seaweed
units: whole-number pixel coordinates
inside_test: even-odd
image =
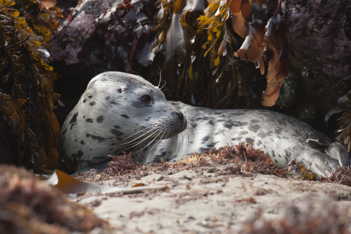
[[[142,77],[105,72],[88,84],[61,131],[62,154],[74,171],[131,152],[141,164],[251,141],[280,167],[292,160],[320,176],[350,168],[350,155],[307,123],[259,109],[209,109],[168,102]],[[96,167],[95,167],[96,168]]]

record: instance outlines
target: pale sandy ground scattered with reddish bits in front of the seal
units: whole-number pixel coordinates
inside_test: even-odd
[[[112,185],[115,181],[103,183]],[[335,183],[190,170],[152,174],[117,185],[136,183],[167,185],[169,189],[117,196],[85,195],[79,203],[107,219],[115,233],[237,233],[258,216],[260,220],[280,220],[291,210],[309,216],[323,216],[333,210],[351,217],[351,188]]]

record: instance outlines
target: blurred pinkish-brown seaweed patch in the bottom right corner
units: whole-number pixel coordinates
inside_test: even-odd
[[[275,220],[264,220],[260,211],[254,221],[247,222],[239,234],[349,234],[351,228],[350,216],[345,211],[340,211],[335,206],[324,204],[317,210],[315,205],[309,204],[306,208],[299,209],[289,205],[284,217]]]

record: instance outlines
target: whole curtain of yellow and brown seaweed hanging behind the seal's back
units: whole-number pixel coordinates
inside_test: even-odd
[[[178,99],[186,96],[192,104],[206,107],[220,108],[225,106],[224,103],[234,103],[236,107],[250,106],[257,95],[249,85],[249,72],[234,56],[254,62],[261,75],[265,73],[264,58],[271,61],[262,104],[273,106],[289,73],[291,58],[289,30],[280,11],[271,18],[267,16],[276,4],[270,1],[211,0],[204,14],[196,19],[198,24],[194,22],[193,12],[188,10],[194,9],[193,2],[187,4],[182,0],[173,5],[160,1],[158,25],[153,29],[159,31],[153,52],[165,48],[165,65],[161,74],[167,74],[166,83],[176,87],[171,91],[172,95]],[[168,9],[173,11],[171,17]],[[169,27],[166,17],[172,19]],[[232,35],[233,30],[245,39],[238,50],[239,43]],[[205,51],[200,51],[199,47]],[[207,55],[207,59],[202,58]],[[213,95],[216,99],[212,98]],[[239,102],[241,97],[244,105]]]

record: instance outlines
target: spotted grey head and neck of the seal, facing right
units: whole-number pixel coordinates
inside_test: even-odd
[[[105,72],[88,84],[62,126],[62,153],[79,170],[183,132],[187,121],[140,76]]]

